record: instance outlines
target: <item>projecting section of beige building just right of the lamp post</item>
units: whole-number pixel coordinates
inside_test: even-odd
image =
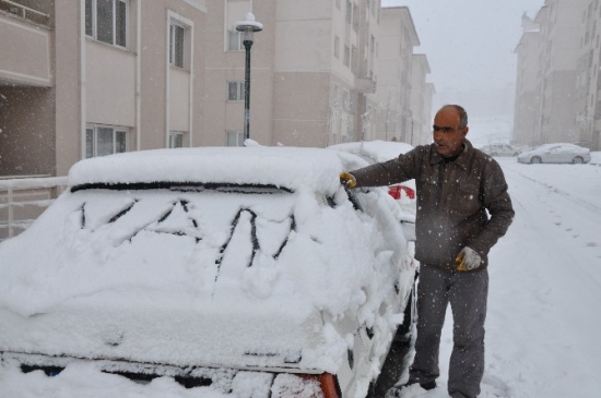
[[[327,146],[373,129],[379,0],[275,1],[274,141]]]

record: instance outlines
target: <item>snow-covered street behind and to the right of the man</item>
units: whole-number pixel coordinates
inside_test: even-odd
[[[516,218],[490,256],[481,397],[599,397],[601,167],[497,160]],[[449,312],[438,387],[406,397],[448,397],[450,325]]]

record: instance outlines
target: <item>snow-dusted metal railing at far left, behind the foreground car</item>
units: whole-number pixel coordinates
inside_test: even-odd
[[[0,177],[0,241],[27,229],[67,184],[67,177]]]

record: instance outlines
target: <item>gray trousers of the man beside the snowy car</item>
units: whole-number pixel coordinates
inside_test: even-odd
[[[484,321],[488,272],[444,272],[420,267],[417,337],[410,381],[428,383],[440,375],[438,352],[448,303],[453,317],[453,348],[448,393],[452,398],[475,398],[484,374]]]

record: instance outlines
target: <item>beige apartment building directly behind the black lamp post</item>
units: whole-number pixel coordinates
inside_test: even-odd
[[[318,147],[362,138],[376,88],[379,0],[210,0],[209,9],[209,135],[225,130],[228,144],[241,144],[245,49],[233,26],[252,12],[263,31],[251,50],[250,137]]]

